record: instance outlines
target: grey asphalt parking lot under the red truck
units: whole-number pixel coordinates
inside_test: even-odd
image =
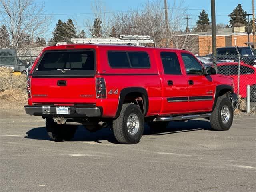
[[[146,126],[140,143],[121,145],[108,128],[54,142],[42,118],[0,113],[0,151],[3,192],[256,191],[256,116],[227,132],[203,119]]]

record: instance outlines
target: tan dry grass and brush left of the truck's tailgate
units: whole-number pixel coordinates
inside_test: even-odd
[[[0,99],[16,104],[24,103],[27,100],[26,75],[14,75],[9,68],[0,68]],[[2,103],[2,102],[1,102]]]

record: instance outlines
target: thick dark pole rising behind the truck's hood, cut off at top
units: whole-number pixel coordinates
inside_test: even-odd
[[[215,20],[215,0],[211,0],[211,12],[212,12],[212,54],[215,56],[215,64],[217,64],[216,56],[216,20]]]

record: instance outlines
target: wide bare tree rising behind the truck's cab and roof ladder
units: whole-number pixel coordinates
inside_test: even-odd
[[[186,34],[184,34],[186,38],[180,36],[183,17],[186,14],[186,7],[183,4],[183,1],[178,5],[174,1],[172,6],[168,6],[167,25],[162,0],[147,1],[140,10],[116,13],[112,25],[118,35],[149,35],[156,47],[184,48],[193,41],[192,36]],[[181,42],[178,44],[178,41]]]

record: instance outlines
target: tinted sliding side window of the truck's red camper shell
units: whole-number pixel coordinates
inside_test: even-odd
[[[108,62],[112,68],[150,68],[146,52],[109,51]]]

